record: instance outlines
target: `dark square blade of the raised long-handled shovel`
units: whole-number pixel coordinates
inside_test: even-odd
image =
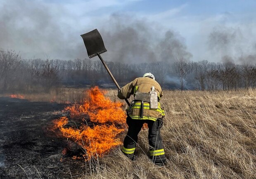
[[[93,31],[82,34],[81,37],[83,38],[83,42],[85,44],[89,58],[97,56],[97,53],[102,54],[107,52],[102,37],[97,28]]]

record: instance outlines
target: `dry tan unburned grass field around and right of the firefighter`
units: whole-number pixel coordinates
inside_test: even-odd
[[[109,90],[116,98],[116,90]],[[119,148],[95,163],[85,179],[255,179],[256,91],[164,91],[161,134],[167,164],[147,157],[147,130],[139,134],[137,160]],[[123,139],[125,134],[122,134]],[[121,146],[120,146],[121,147]]]

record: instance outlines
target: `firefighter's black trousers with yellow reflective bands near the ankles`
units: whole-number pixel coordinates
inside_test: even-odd
[[[144,123],[147,123],[149,128],[149,154],[153,163],[165,163],[166,157],[164,154],[163,141],[160,135],[160,129],[163,126],[163,120],[137,120],[127,116],[126,123],[128,124],[128,132],[123,141],[122,152],[131,160],[134,159],[134,151],[138,141],[138,134]]]

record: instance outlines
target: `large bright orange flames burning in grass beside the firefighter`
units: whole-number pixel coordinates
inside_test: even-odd
[[[111,101],[104,97],[105,93],[98,87],[92,87],[88,90],[89,99],[83,104],[74,104],[65,108],[70,111],[71,119],[77,118],[79,115],[87,115],[90,121],[94,122],[93,127],[85,124],[79,128],[65,127],[69,122],[65,116],[54,121],[54,129],[59,129],[63,137],[76,142],[85,151],[82,154],[85,160],[102,157],[112,147],[121,144],[120,139],[116,137],[124,130],[120,126],[126,121],[126,113],[122,109],[121,102]],[[87,122],[89,119],[85,120]],[[116,126],[118,124],[119,127]],[[73,158],[79,157],[74,156]]]

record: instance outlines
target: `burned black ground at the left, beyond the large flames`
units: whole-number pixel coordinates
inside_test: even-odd
[[[76,178],[86,171],[83,161],[62,155],[68,142],[49,129],[66,115],[64,107],[0,97],[0,179]]]

